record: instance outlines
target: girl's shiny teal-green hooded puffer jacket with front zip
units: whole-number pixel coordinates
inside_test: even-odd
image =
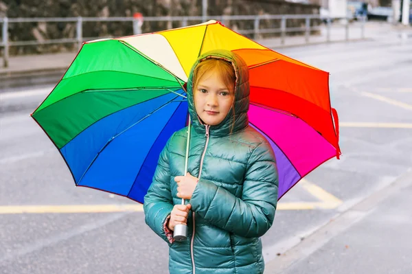
[[[233,111],[217,126],[201,124],[194,108],[192,69],[187,82],[192,119],[188,171],[200,179],[186,202],[194,212],[187,220],[188,239],[170,244],[163,230],[173,205],[181,204],[174,176],[185,172],[187,128],[174,133],[161,152],[144,198],[146,223],[168,242],[172,274],[263,273],[260,236],[271,227],[277,205],[275,155],[249,126],[249,71],[242,58],[218,50],[198,58],[194,67],[205,58],[223,58],[236,68],[233,131]]]

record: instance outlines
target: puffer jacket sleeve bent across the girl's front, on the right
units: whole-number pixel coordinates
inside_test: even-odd
[[[273,224],[277,187],[275,155],[264,143],[249,158],[241,198],[200,179],[190,203],[194,212],[216,227],[243,237],[260,237]]]

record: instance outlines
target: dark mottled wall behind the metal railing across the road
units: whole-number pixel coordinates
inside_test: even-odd
[[[0,0],[0,16],[16,17],[77,17],[77,16],[201,16],[202,0]],[[209,0],[208,14],[318,14],[318,5],[290,3],[281,0]],[[199,22],[188,22],[188,24]],[[235,30],[253,30],[253,21],[229,21],[225,25]],[[304,26],[304,20],[288,20],[288,27]],[[312,21],[312,25],[318,25]],[[180,22],[145,22],[143,32],[155,32],[180,27]],[[279,28],[279,20],[262,20],[261,28]],[[1,31],[1,30],[0,30]],[[10,41],[46,41],[75,38],[76,23],[10,23]],[[83,37],[126,36],[133,34],[130,22],[84,22]],[[76,50],[76,44],[10,47],[10,55]]]

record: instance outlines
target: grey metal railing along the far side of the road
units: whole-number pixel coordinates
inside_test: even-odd
[[[206,20],[218,20],[224,25],[228,21],[253,21],[252,30],[236,30],[236,32],[244,35],[252,35],[253,38],[258,38],[261,34],[279,34],[281,45],[284,45],[286,34],[289,32],[304,32],[305,41],[309,43],[310,32],[315,30],[321,30],[321,26],[311,26],[312,20],[321,20],[325,22],[327,35],[326,41],[330,42],[330,26],[332,18],[321,18],[319,14],[285,14],[285,15],[241,15],[241,16],[163,16],[163,17],[145,17],[144,22],[180,22],[181,27],[186,27],[188,22],[201,23]],[[305,21],[304,27],[286,27],[287,20],[301,19]],[[347,18],[333,18],[341,19],[345,21],[345,40],[349,40],[349,20]],[[279,28],[260,28],[262,20],[279,20]],[[8,28],[12,23],[47,23],[47,22],[69,22],[76,23],[76,37],[75,38],[59,38],[49,39],[45,41],[10,41]],[[9,60],[9,48],[16,46],[27,45],[46,45],[46,44],[60,44],[60,43],[74,43],[77,44],[78,49],[82,46],[84,41],[94,40],[96,38],[110,38],[110,37],[84,37],[83,36],[83,24],[84,22],[130,22],[133,23],[133,34],[141,33],[141,23],[134,17],[67,17],[67,18],[0,18],[2,24],[2,40],[0,48],[3,47],[3,67],[8,67]],[[361,23],[361,38],[365,38],[365,19]]]

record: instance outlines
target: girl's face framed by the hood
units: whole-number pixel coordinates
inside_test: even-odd
[[[209,126],[220,124],[233,104],[234,83],[226,87],[218,73],[210,71],[198,80],[194,90],[194,106],[202,121]]]

